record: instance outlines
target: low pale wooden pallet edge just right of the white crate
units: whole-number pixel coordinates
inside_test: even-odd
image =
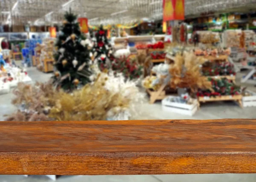
[[[242,95],[221,95],[216,97],[198,97],[198,102],[213,102],[213,101],[237,101],[239,106],[243,108]]]

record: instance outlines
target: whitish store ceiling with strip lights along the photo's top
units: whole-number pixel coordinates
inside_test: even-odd
[[[185,0],[186,16],[227,9],[256,8],[256,0]],[[61,23],[72,9],[91,25],[131,23],[142,18],[160,20],[163,0],[0,0],[2,24],[44,25]]]

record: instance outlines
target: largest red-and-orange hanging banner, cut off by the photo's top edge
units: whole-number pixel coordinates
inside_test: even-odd
[[[184,20],[184,0],[163,0],[163,21]]]

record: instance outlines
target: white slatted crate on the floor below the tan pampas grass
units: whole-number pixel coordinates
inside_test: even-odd
[[[193,99],[192,104],[182,104],[170,101],[171,98],[175,98],[175,96],[169,96],[162,100],[164,111],[193,116],[198,110],[198,101],[196,99]]]

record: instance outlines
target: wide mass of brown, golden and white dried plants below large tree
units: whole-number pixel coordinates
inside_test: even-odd
[[[122,74],[101,73],[72,93],[54,91],[51,84],[19,84],[13,104],[22,106],[7,121],[87,121],[128,119],[143,101],[135,82]],[[134,116],[134,115],[133,115]]]

